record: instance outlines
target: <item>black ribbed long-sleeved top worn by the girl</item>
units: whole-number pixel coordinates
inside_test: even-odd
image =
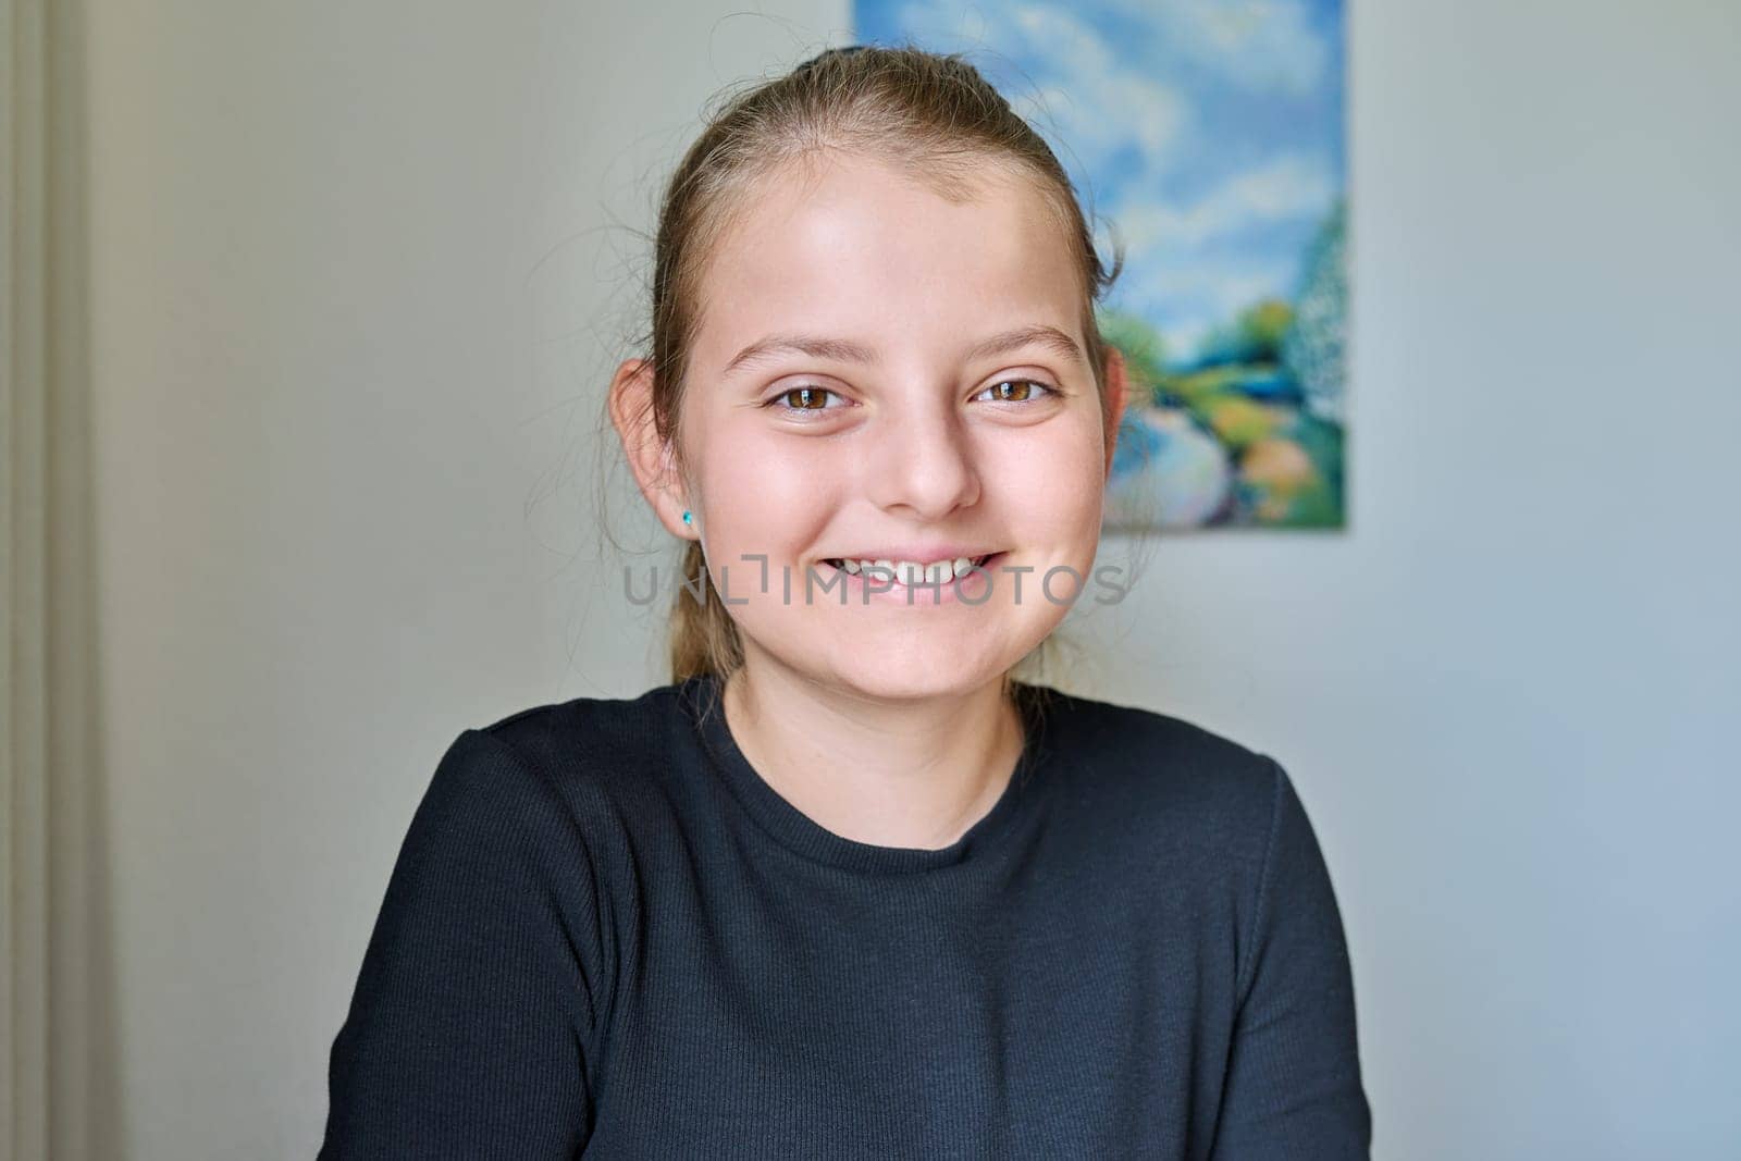
[[[1048,691],[984,818],[884,848],[763,782],[717,693],[454,740],[324,1161],[1367,1158],[1342,921],[1273,759]]]

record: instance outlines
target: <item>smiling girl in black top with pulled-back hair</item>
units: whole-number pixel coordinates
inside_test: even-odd
[[[1365,1158],[1267,755],[1018,681],[1093,567],[1116,277],[965,61],[825,52],[660,212],[609,414],[686,541],[672,684],[467,729],[322,1158]]]

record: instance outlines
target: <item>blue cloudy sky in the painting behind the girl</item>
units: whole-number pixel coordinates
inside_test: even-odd
[[[1034,124],[1118,225],[1107,305],[1170,355],[1294,299],[1346,188],[1341,0],[857,0],[853,21],[860,42],[965,52]]]

